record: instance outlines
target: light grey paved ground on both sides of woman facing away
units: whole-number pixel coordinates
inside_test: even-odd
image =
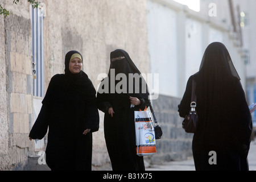
[[[248,162],[249,170],[256,171],[256,138],[251,141]],[[190,160],[168,162],[163,165],[154,165],[146,168],[146,171],[195,171],[195,166],[192,158]]]

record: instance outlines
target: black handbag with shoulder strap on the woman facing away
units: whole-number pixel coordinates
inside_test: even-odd
[[[182,127],[187,133],[196,133],[199,118],[196,113],[196,82],[193,80],[192,82],[192,94],[191,94],[191,110],[189,111],[188,115],[185,116]]]

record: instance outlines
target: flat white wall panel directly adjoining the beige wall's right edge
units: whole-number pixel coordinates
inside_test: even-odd
[[[176,12],[152,1],[147,9],[151,73],[159,74],[159,93],[177,96]]]

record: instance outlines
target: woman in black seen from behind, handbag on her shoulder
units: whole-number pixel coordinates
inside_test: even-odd
[[[224,44],[209,44],[199,72],[189,77],[178,106],[183,118],[191,109],[192,80],[196,82],[200,121],[192,141],[196,170],[249,170],[251,114],[240,77]],[[210,151],[216,152],[216,156]]]

